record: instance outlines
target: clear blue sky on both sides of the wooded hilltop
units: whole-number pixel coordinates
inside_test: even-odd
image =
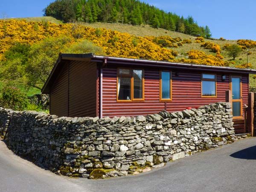
[[[0,18],[40,17],[54,0],[0,0]],[[254,0],[144,0],[166,12],[208,25],[214,38],[256,40],[256,1]]]

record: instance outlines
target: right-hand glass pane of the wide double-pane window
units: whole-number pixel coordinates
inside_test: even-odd
[[[143,72],[142,70],[133,70],[134,78],[134,99],[143,99]]]

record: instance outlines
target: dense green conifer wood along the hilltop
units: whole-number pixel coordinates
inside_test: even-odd
[[[147,24],[193,36],[211,37],[209,27],[198,26],[193,17],[167,13],[138,0],[56,0],[44,9],[44,15],[64,22]]]

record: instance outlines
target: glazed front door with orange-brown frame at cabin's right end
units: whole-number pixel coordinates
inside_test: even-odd
[[[233,119],[242,119],[242,81],[241,76],[231,76],[230,88],[232,91]]]

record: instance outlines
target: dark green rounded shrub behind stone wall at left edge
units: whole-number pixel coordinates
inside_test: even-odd
[[[6,86],[3,87],[1,94],[1,105],[4,108],[13,110],[25,110],[29,105],[29,100],[24,93],[21,93],[17,87]]]

